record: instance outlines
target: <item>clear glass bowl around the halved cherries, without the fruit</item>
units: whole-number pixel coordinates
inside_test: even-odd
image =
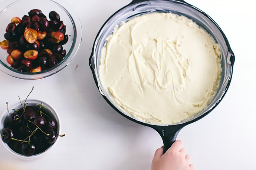
[[[19,72],[16,69],[11,68],[7,63],[6,57],[8,54],[6,50],[0,49],[1,71],[20,79],[40,79],[56,74],[72,61],[82,41],[82,26],[79,17],[70,5],[63,1],[59,2],[60,4],[53,0],[7,0],[1,3],[0,34],[2,34],[2,38],[4,38],[3,35],[6,32],[5,29],[13,17],[22,18],[24,15],[28,15],[28,12],[32,9],[42,10],[42,13],[47,16],[48,20],[50,11],[59,13],[60,19],[66,25],[66,34],[70,35],[68,43],[63,45],[63,49],[67,51],[66,57],[55,67],[38,73]]]

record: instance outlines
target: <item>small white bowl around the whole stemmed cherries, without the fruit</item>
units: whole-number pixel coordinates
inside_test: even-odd
[[[53,119],[56,120],[56,123],[58,125],[58,129],[56,131],[57,134],[60,134],[61,133],[61,123],[60,123],[60,118],[59,118],[59,115],[57,113],[57,111],[48,103],[44,102],[44,101],[39,101],[39,100],[36,100],[36,99],[27,99],[26,103],[28,103],[27,106],[31,106],[31,105],[36,105],[36,104],[41,104],[41,102],[43,102],[43,105],[46,106],[52,113],[52,115],[50,115]],[[22,100],[22,103],[24,103],[24,100]],[[20,102],[17,102],[17,103],[14,103],[13,105],[9,105],[9,111],[11,112],[12,109],[18,109],[18,107],[20,106]],[[7,121],[8,119],[8,116],[9,116],[9,113],[6,109],[6,111],[1,115],[0,117],[0,132],[1,132],[1,135],[3,134],[3,129],[4,129],[4,122]],[[0,135],[0,136],[1,136]],[[59,140],[59,136],[57,137],[57,140],[55,143],[53,143],[53,145],[51,145],[47,150],[45,150],[44,152],[42,153],[39,153],[39,154],[36,154],[36,155],[33,155],[33,156],[24,156],[22,154],[18,154],[16,152],[14,152],[8,145],[7,143],[4,143],[3,139],[0,139],[0,143],[1,145],[3,145],[11,154],[13,154],[14,156],[20,158],[20,159],[23,159],[23,160],[36,160],[42,156],[44,156],[46,153],[48,153],[50,151],[50,149],[56,145],[56,143],[58,142]]]

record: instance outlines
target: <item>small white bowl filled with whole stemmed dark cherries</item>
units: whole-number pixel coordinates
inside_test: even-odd
[[[27,98],[20,100],[19,97],[19,102],[10,107],[6,103],[7,110],[1,117],[0,140],[15,156],[35,159],[55,145],[59,137],[65,135],[59,135],[60,118],[52,106]]]

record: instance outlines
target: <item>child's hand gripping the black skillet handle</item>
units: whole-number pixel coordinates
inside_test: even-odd
[[[194,170],[190,164],[190,156],[182,147],[183,142],[177,140],[165,154],[163,147],[156,150],[151,170]]]

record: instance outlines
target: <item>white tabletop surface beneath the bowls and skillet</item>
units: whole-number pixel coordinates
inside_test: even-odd
[[[2,2],[3,0],[0,0]],[[0,170],[150,170],[155,149],[163,145],[153,129],[115,112],[96,88],[88,67],[93,41],[105,20],[130,0],[69,0],[83,27],[81,48],[63,71],[27,81],[0,72],[0,113],[17,95],[52,104],[62,120],[65,138],[49,155],[27,162],[0,146]],[[234,75],[223,101],[208,116],[181,130],[196,170],[256,169],[256,10],[253,0],[187,0],[222,28],[236,55]],[[78,68],[75,71],[76,66]]]

